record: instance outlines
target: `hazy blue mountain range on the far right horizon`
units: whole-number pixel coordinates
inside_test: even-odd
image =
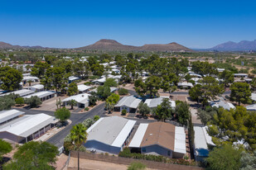
[[[239,43],[235,43],[232,41],[216,45],[210,50],[219,50],[219,51],[248,51],[248,50],[256,50],[256,40],[242,40]]]

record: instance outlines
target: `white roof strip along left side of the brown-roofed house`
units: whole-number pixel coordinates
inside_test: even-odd
[[[142,143],[142,139],[146,133],[147,130],[147,126],[148,124],[140,124],[138,126],[138,130],[136,131],[135,135],[133,136],[133,139],[131,141],[131,143],[129,144],[129,147],[131,148],[139,148],[141,143]]]

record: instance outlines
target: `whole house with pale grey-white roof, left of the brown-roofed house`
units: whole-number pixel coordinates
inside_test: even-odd
[[[85,147],[88,150],[118,154],[129,142],[136,120],[119,116],[102,117],[87,131]]]

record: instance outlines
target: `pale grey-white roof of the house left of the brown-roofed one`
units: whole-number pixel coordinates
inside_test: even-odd
[[[136,120],[128,120],[119,116],[100,118],[86,130],[87,141],[96,140],[103,144],[122,147],[135,123]]]

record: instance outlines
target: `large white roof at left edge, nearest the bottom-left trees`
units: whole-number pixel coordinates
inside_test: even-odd
[[[13,135],[27,137],[41,128],[53,123],[55,117],[48,116],[44,113],[37,115],[26,115],[11,122],[1,125],[0,132],[7,131]]]

